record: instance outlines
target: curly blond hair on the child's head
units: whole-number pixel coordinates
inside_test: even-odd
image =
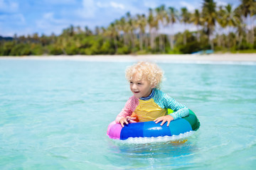
[[[137,64],[127,67],[125,72],[125,77],[128,81],[131,81],[135,75],[139,80],[148,80],[151,86],[155,86],[156,89],[160,89],[164,72],[154,63],[138,62]]]

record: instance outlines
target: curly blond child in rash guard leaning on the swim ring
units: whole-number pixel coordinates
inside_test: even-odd
[[[134,95],[129,98],[115,120],[122,127],[124,124],[135,122],[135,118],[131,117],[133,112],[137,114],[139,122],[154,120],[155,123],[161,122],[161,125],[164,125],[167,121],[167,126],[171,120],[188,115],[186,106],[159,90],[163,72],[156,64],[138,62],[128,67],[125,77]],[[174,113],[168,115],[167,108],[171,108]]]

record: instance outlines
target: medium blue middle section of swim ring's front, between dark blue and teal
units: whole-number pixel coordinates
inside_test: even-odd
[[[171,130],[166,126],[167,123],[161,126],[160,123],[154,121],[144,122],[144,137],[159,137],[159,136],[171,136]]]

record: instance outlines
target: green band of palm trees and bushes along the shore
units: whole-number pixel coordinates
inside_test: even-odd
[[[149,8],[147,14],[131,16],[128,12],[107,28],[70,26],[60,35],[14,35],[0,39],[0,55],[125,55],[183,54],[201,50],[217,52],[255,52],[256,1],[241,0],[238,8],[216,6],[204,0],[203,7],[190,13],[162,5]],[[186,28],[174,35],[175,24]],[[189,31],[188,27],[195,27]],[[161,33],[160,28],[169,30]]]

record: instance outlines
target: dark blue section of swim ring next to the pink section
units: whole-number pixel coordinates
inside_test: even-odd
[[[144,123],[130,123],[124,125],[121,130],[120,140],[127,140],[129,137],[143,137]]]

